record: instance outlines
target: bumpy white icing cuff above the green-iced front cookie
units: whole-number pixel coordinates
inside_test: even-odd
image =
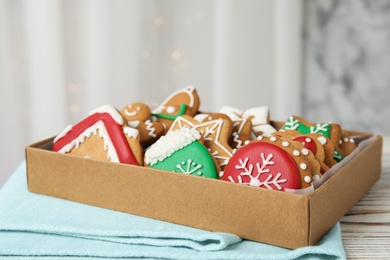
[[[145,152],[145,162],[150,166],[159,161],[162,162],[165,158],[200,138],[201,135],[196,128],[182,127],[175,131],[169,131]]]

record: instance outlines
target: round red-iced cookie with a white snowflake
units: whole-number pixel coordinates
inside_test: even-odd
[[[266,142],[253,142],[237,150],[222,179],[272,190],[301,188],[300,172],[291,155]]]

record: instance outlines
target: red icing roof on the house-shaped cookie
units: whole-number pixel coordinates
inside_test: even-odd
[[[66,133],[65,136],[53,144],[53,151],[58,152],[62,147],[72,142],[87,128],[93,126],[98,121],[102,121],[104,123],[107,133],[118,155],[119,162],[139,165],[129,143],[127,142],[125,134],[123,133],[122,126],[115,122],[108,113],[95,113],[73,126],[73,128]]]

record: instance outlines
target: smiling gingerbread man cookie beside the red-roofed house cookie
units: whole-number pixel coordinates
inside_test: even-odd
[[[130,127],[139,131],[143,147],[147,147],[155,142],[165,132],[162,123],[152,122],[150,108],[144,103],[132,103],[124,107],[120,113],[127,120],[127,124]]]

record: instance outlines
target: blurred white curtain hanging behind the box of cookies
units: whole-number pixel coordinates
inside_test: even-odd
[[[158,103],[193,85],[203,111],[299,114],[300,5],[0,0],[0,186],[26,145],[103,104]]]

